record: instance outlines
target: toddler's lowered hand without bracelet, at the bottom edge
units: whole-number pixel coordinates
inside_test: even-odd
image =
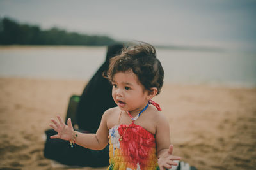
[[[158,159],[158,166],[160,170],[165,170],[172,168],[172,166],[177,166],[177,162],[174,162],[173,160],[180,160],[180,157],[173,156],[173,145],[170,145],[167,152],[164,152]]]

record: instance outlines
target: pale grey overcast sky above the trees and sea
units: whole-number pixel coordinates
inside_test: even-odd
[[[0,0],[0,17],[154,45],[256,47],[256,1],[249,0]]]

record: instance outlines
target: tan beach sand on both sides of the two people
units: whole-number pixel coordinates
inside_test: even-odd
[[[69,97],[85,84],[0,78],[0,169],[61,169],[44,157],[42,137],[52,117],[65,118]],[[255,169],[256,88],[165,84],[155,101],[182,160],[198,169]]]

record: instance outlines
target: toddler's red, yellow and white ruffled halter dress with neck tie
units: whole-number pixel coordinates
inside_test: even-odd
[[[154,101],[149,101],[148,104],[152,104],[158,110],[161,110]],[[143,111],[147,109],[147,106]],[[131,124],[120,125],[118,121],[118,125],[109,129],[109,170],[159,169],[154,134],[140,125],[134,124],[134,120],[143,111],[135,118],[129,115],[132,119]]]

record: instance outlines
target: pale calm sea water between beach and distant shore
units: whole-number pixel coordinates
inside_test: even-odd
[[[156,50],[165,82],[256,87],[256,53]],[[1,46],[0,76],[89,80],[106,51],[106,46]]]

